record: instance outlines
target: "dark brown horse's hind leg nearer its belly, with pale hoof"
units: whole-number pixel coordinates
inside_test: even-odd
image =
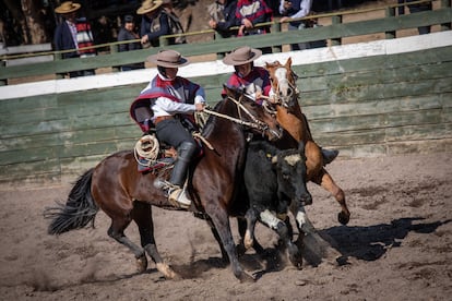
[[[140,231],[141,245],[146,250],[147,254],[156,264],[157,269],[169,279],[178,277],[178,275],[169,267],[168,264],[164,263],[160,254],[157,251],[154,238],[154,222],[152,219],[152,206],[143,202],[134,202],[132,218],[136,222]],[[138,263],[140,264],[138,258]],[[144,256],[146,260],[146,256]],[[147,262],[146,262],[147,265]]]

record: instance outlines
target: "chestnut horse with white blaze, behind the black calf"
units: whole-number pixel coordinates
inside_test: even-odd
[[[289,58],[283,65],[278,61],[266,63],[270,73],[273,91],[277,95],[276,120],[287,131],[289,137],[278,141],[282,148],[296,147],[294,140],[305,143],[307,179],[321,185],[329,191],[340,203],[341,212],[337,215],[338,221],[346,225],[349,221],[350,213],[345,203],[343,190],[334,182],[333,178],[324,168],[323,157],[320,147],[313,141],[309,130],[308,121],[301,112],[298,103],[297,75],[292,70],[292,59]],[[302,209],[302,206],[300,207]],[[297,225],[302,228],[304,222],[308,228],[309,220],[304,212],[294,213]],[[307,229],[309,231],[309,229]]]

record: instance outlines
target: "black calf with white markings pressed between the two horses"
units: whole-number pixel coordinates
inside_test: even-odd
[[[267,142],[255,141],[248,147],[243,174],[250,202],[246,214],[245,248],[262,249],[253,237],[255,221],[259,219],[277,232],[287,246],[290,262],[297,267],[301,267],[301,252],[293,243],[292,228],[284,219],[292,202],[311,203],[311,195],[306,188],[305,161],[302,143],[298,149],[281,150]]]

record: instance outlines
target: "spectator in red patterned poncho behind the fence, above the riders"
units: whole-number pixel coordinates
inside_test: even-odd
[[[236,17],[240,27],[238,36],[261,35],[270,33],[270,25],[255,27],[259,23],[271,22],[273,11],[266,5],[264,0],[238,0]],[[260,48],[263,53],[271,53],[272,48]]]

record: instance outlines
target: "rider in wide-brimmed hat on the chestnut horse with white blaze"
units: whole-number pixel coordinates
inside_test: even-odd
[[[227,86],[241,88],[257,104],[262,105],[265,99],[276,103],[276,94],[272,88],[270,73],[265,68],[255,67],[254,61],[262,56],[262,51],[242,46],[226,55],[223,63],[234,65],[234,73],[227,80]],[[222,92],[224,96],[225,91]],[[308,127],[310,134],[310,129]],[[312,135],[311,135],[312,136]],[[337,157],[338,152],[320,148],[323,164],[328,165]]]

